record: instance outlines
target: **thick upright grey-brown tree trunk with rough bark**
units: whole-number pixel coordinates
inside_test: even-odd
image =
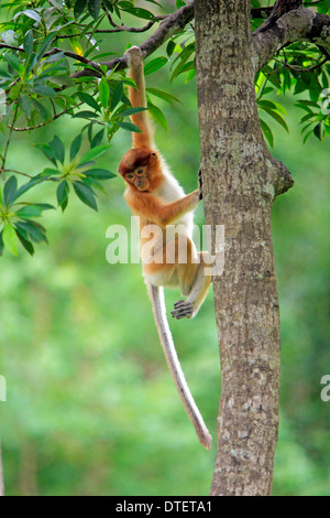
[[[249,0],[195,6],[206,223],[226,233],[224,273],[213,279],[222,388],[211,495],[271,495],[279,421],[271,211],[290,179],[258,122],[250,9]]]

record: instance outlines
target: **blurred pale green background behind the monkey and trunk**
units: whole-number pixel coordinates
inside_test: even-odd
[[[134,43],[134,37],[131,37]],[[183,105],[160,102],[169,133],[162,153],[186,192],[199,166],[196,85],[168,85],[165,67],[147,78]],[[275,133],[274,157],[296,185],[275,203],[274,246],[282,313],[280,430],[275,495],[330,494],[329,152],[314,137],[302,145],[294,99],[284,99],[289,136]],[[266,119],[266,116],[265,116]],[[48,164],[33,142],[69,142],[79,121],[62,119],[31,136],[15,134],[9,166],[30,174]],[[3,137],[0,145],[3,145]],[[121,132],[100,165],[113,172],[130,134]],[[8,495],[207,495],[216,445],[200,447],[177,397],[158,343],[139,265],[108,265],[107,228],[130,227],[123,182],[108,183],[99,213],[72,197],[67,212],[46,214],[50,247],[0,260],[0,403]],[[38,202],[56,204],[53,185]],[[33,195],[31,195],[33,196]],[[34,194],[35,196],[35,194]],[[43,199],[41,199],[43,198]],[[204,223],[202,206],[196,223]],[[167,307],[178,293],[167,292]],[[170,321],[187,380],[213,435],[220,365],[212,293],[195,321]],[[216,441],[215,441],[216,442]]]

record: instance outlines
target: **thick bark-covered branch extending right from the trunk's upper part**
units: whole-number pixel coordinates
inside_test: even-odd
[[[280,47],[297,41],[309,41],[326,51],[330,48],[330,17],[299,7],[283,14],[273,25],[261,25],[253,33],[255,72],[268,63]]]

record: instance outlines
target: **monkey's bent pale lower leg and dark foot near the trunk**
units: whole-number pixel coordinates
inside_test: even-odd
[[[197,315],[199,307],[205,301],[211,284],[211,276],[206,273],[207,263],[205,259],[208,252],[199,252],[200,262],[197,266],[195,279],[186,301],[178,301],[174,304],[172,316],[174,319],[193,319]],[[187,265],[187,269],[191,269],[194,265]],[[190,274],[190,272],[188,271]]]

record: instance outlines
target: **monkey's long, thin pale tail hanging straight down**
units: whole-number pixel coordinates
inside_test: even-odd
[[[164,300],[163,288],[157,288],[148,282],[146,283],[147,291],[152,301],[154,317],[158,330],[161,344],[165,354],[165,358],[177,388],[178,395],[184,403],[187,414],[196,430],[200,444],[209,450],[212,444],[212,438],[202,420],[202,417],[194,401],[182,366],[179,364],[175,345],[173,342],[172,333],[166,319],[166,307]]]

